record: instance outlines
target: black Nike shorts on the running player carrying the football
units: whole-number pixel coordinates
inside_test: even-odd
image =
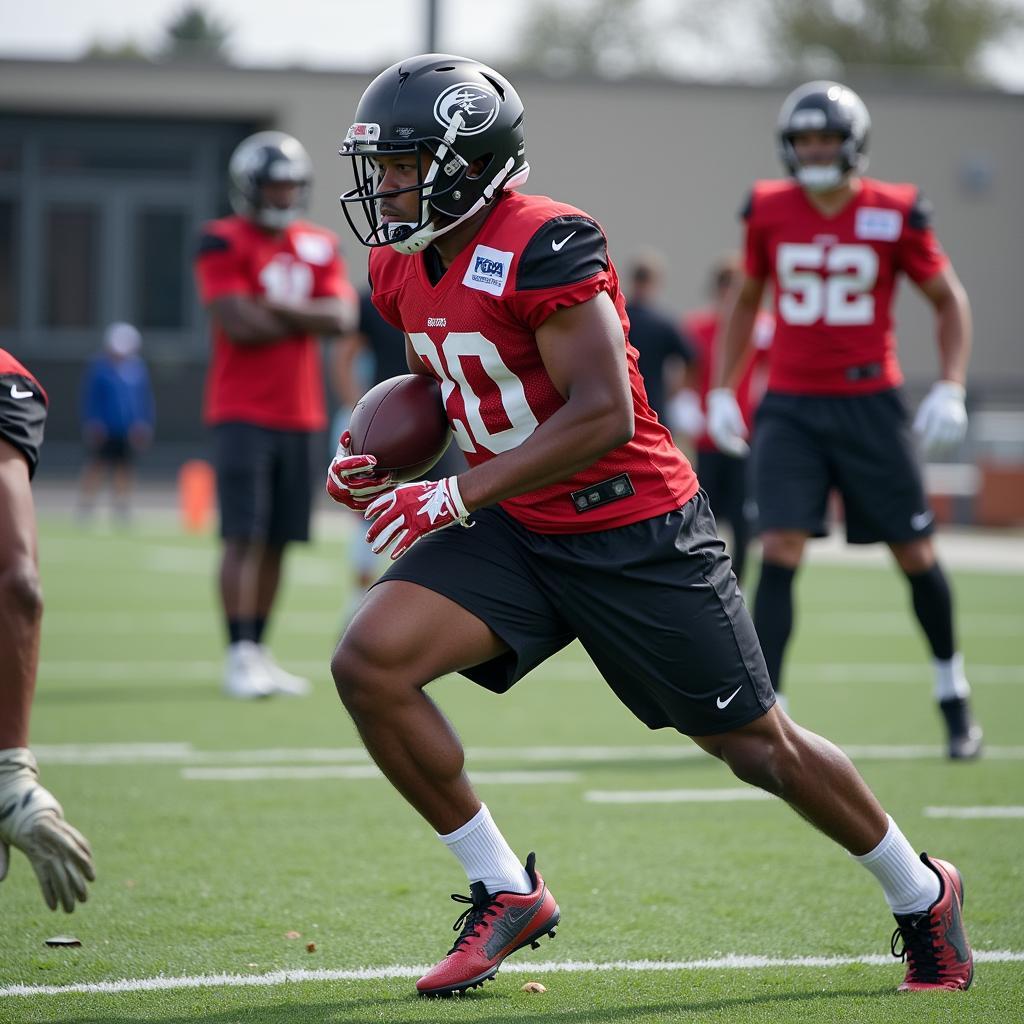
[[[728,732],[775,702],[707,496],[592,534],[536,534],[500,508],[419,541],[379,582],[407,580],[472,612],[508,644],[464,671],[503,693],[579,637],[651,729]]]

